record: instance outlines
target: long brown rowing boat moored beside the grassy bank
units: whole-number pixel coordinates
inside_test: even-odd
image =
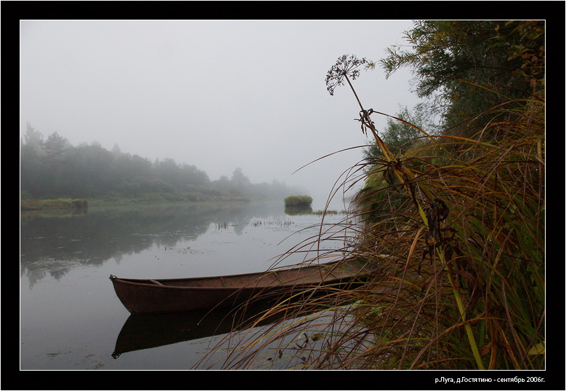
[[[174,313],[229,308],[276,299],[300,299],[367,280],[375,263],[359,259],[334,261],[216,277],[136,280],[110,276],[116,295],[130,313]]]

